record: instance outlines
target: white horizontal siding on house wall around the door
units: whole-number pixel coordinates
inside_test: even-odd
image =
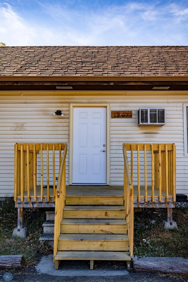
[[[169,92],[168,92],[169,93]],[[127,95],[127,96],[126,96]],[[122,143],[175,143],[177,192],[188,194],[188,157],[184,156],[183,103],[187,95],[84,95],[0,97],[0,197],[14,192],[16,142],[69,142],[69,103],[110,103],[110,111],[131,110],[132,118],[110,117],[110,184],[123,184]],[[166,125],[137,127],[136,110],[165,108]],[[64,117],[53,116],[62,110]],[[148,164],[149,169],[149,164]],[[143,168],[141,168],[143,171]],[[134,182],[137,179],[134,168]],[[68,183],[68,155],[66,160]],[[141,181],[144,179],[141,177]],[[150,181],[150,179],[148,179]]]

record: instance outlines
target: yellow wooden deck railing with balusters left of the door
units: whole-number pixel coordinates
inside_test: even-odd
[[[56,174],[61,165],[62,151],[66,143],[16,143],[14,157],[14,200],[32,197],[43,199],[44,185],[47,188],[47,201],[50,200],[50,186],[55,200]],[[38,177],[37,177],[38,176]],[[25,192],[25,193],[24,193]],[[25,196],[26,195],[26,196]]]

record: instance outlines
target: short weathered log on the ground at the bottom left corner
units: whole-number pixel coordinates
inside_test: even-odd
[[[23,255],[0,256],[0,269],[20,269],[23,261]]]

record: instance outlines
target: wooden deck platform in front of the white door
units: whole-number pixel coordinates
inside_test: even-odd
[[[27,191],[24,192],[24,201],[21,202],[21,194],[15,202],[16,207],[55,207],[53,197],[53,188],[49,189],[50,201],[47,201],[47,188],[43,188],[43,199],[40,198],[41,187],[37,187],[37,200],[34,201],[34,189],[30,190],[30,201],[28,202]],[[159,202],[159,189],[154,189],[154,202],[152,202],[152,187],[147,187],[147,202],[145,202],[145,187],[140,187],[140,202],[138,202],[138,188],[134,186],[134,207],[174,207],[173,195],[169,194],[168,202],[166,202],[166,192],[161,191],[162,199]],[[105,204],[105,198],[113,197],[122,198],[123,186],[103,186],[103,185],[86,185],[86,186],[66,186],[66,201],[70,204],[71,198],[74,197],[98,197],[100,202]],[[119,201],[119,200],[118,200]],[[83,203],[84,204],[84,203]]]

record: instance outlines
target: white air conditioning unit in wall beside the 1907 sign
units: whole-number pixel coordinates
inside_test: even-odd
[[[137,125],[163,126],[165,124],[165,109],[140,108],[137,110]]]

